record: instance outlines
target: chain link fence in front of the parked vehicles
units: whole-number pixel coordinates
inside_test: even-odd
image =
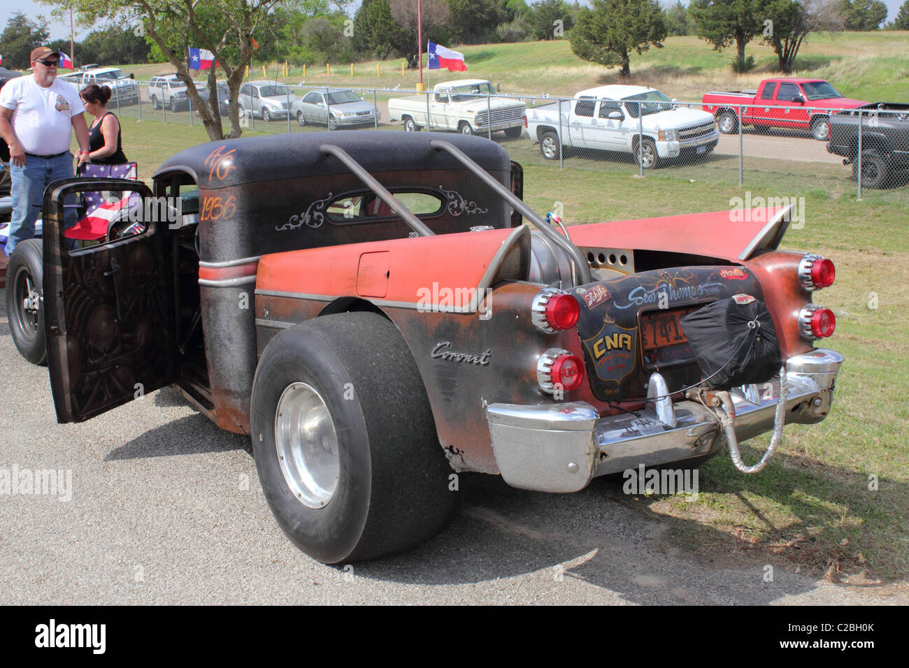
[[[138,104],[112,100],[108,108],[125,118],[202,125],[185,91],[162,95],[150,82],[138,84]],[[561,98],[484,86],[421,92],[244,84],[240,123],[256,134],[462,132],[504,145],[524,165],[677,178],[768,196],[862,199],[874,190],[909,204],[909,105],[837,113],[807,103],[704,105],[655,91],[623,99]],[[226,121],[226,95],[219,96]]]

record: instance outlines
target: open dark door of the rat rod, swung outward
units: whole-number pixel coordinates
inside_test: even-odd
[[[67,250],[64,221],[84,217],[82,194],[99,191],[115,209],[107,214],[117,234]],[[45,335],[60,423],[176,380],[169,212],[156,204],[145,184],[126,179],[65,179],[45,190]]]

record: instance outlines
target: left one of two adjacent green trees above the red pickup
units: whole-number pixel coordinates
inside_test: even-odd
[[[736,72],[747,65],[744,47],[764,31],[763,0],[692,0],[688,15],[697,26],[697,36],[714,45],[715,51],[735,45]]]

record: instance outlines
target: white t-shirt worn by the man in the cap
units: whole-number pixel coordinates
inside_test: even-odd
[[[42,88],[34,76],[17,76],[0,90],[0,106],[13,110],[11,125],[25,153],[55,155],[69,150],[73,116],[85,106],[74,85],[58,78]]]

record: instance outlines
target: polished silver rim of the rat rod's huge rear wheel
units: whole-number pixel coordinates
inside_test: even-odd
[[[281,394],[275,450],[291,493],[308,508],[324,508],[335,495],[341,460],[332,416],[311,385],[289,384]]]

